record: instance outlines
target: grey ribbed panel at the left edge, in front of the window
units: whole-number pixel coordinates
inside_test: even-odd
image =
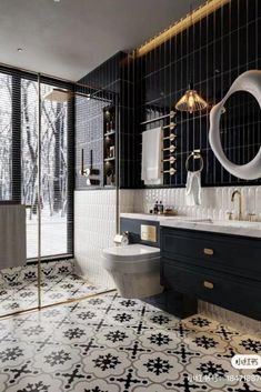
[[[0,270],[27,262],[26,205],[0,205]]]

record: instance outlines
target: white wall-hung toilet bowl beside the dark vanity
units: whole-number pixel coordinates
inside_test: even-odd
[[[103,250],[102,264],[123,298],[145,298],[163,290],[160,285],[159,248],[138,243],[108,248]]]

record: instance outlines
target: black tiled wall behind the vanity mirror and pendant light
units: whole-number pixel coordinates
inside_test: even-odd
[[[177,114],[177,174],[164,174],[165,187],[185,184],[185,159],[200,149],[204,169],[203,185],[261,183],[243,181],[229,174],[209,145],[209,111],[242,72],[261,69],[261,1],[231,0],[190,29],[135,60],[137,173],[141,172],[141,133],[165,124],[165,120],[140,125],[140,122],[165,114],[187,90],[190,79],[208,101],[205,112]],[[260,148],[260,108],[248,93],[233,94],[225,104],[221,134],[224,151],[238,164],[250,161]],[[169,167],[169,163],[167,163]],[[137,175],[137,187],[142,187]]]

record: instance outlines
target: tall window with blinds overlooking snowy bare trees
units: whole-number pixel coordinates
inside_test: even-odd
[[[43,99],[53,81],[41,83],[41,257],[72,253],[72,103]],[[27,257],[38,257],[38,82],[0,73],[0,200],[27,209]],[[72,187],[72,183],[71,183]],[[13,191],[14,190],[14,191]],[[19,193],[19,197],[18,197]]]

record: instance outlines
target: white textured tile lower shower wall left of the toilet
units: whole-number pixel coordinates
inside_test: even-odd
[[[116,208],[116,190],[74,192],[76,273],[104,290],[114,289],[101,258],[104,248],[113,247]]]

